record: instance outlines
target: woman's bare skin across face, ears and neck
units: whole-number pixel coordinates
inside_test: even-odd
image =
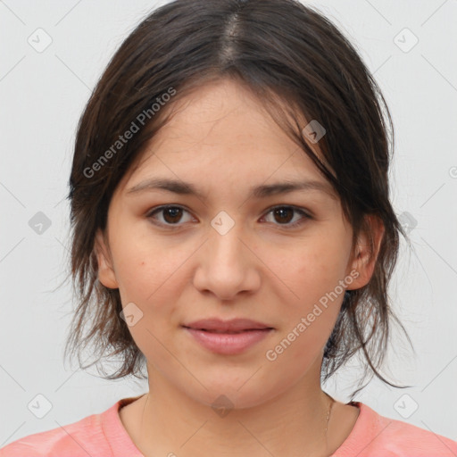
[[[96,237],[99,280],[119,288],[124,307],[135,303],[143,312],[129,331],[147,359],[149,394],[121,409],[120,420],[146,456],[333,453],[359,413],[336,401],[326,443],[330,397],[320,386],[320,365],[344,294],[275,361],[265,353],[351,271],[358,276],[346,288],[367,284],[382,226],[370,220],[370,257],[366,237],[353,245],[331,191],[248,198],[250,187],[285,179],[328,182],[245,87],[231,80],[204,85],[172,109],[116,188],[107,233]],[[128,195],[153,177],[190,182],[204,195]],[[163,211],[151,216],[163,204],[184,207],[180,219]],[[271,212],[290,205],[312,218]],[[220,211],[235,223],[225,235],[211,225]],[[303,223],[291,228],[297,220]],[[221,355],[181,328],[207,317],[249,318],[275,329],[245,353]],[[225,417],[212,410],[220,395],[233,404]]]

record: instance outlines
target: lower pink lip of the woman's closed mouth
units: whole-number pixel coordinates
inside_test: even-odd
[[[242,330],[240,333],[216,333],[187,327],[186,330],[206,349],[225,355],[243,353],[273,331],[272,328],[262,328]]]

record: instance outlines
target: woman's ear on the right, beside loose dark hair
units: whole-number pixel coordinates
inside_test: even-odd
[[[370,282],[370,278],[375,270],[378,259],[379,247],[384,237],[384,224],[378,216],[365,216],[365,229],[361,230],[357,243],[353,247],[352,260],[348,265],[348,270],[352,271],[353,282],[348,290],[360,289]],[[373,252],[370,247],[373,245]],[[349,273],[348,271],[348,273]]]

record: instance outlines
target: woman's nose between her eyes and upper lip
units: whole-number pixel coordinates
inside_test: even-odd
[[[224,233],[210,227],[209,239],[199,250],[194,286],[220,301],[232,301],[238,294],[252,294],[261,284],[260,260],[244,236],[241,224]]]

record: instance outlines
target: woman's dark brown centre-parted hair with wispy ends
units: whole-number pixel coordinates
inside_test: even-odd
[[[166,123],[168,107],[205,82],[223,78],[248,87],[312,158],[336,189],[354,240],[369,230],[364,216],[382,220],[385,233],[375,270],[365,287],[345,292],[325,347],[321,379],[361,350],[372,372],[395,386],[378,373],[390,320],[407,336],[387,300],[403,233],[389,201],[391,116],[353,45],[320,12],[295,0],[176,0],[148,15],[112,57],[76,137],[68,198],[71,275],[79,303],[65,355],[78,353],[83,369],[118,356],[120,369],[104,371],[104,378],[145,378],[145,356],[120,319],[119,290],[97,278],[96,230],[105,230],[114,189]],[[297,119],[303,117],[326,129],[319,141],[321,158],[303,138]],[[138,131],[118,143],[133,124]],[[89,344],[95,361],[83,366],[81,351]],[[365,365],[363,378],[367,373]]]

